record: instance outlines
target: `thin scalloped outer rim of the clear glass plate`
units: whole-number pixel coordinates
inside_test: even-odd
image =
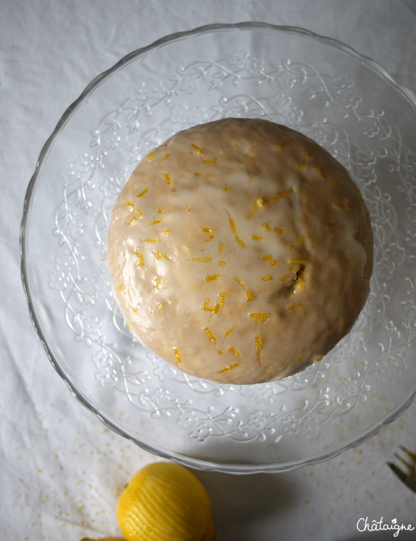
[[[168,35],[167,37],[164,37],[162,39],[157,40],[153,44],[150,44],[149,46],[146,46],[144,48],[140,48],[137,51],[133,51],[132,53],[125,55],[119,62],[117,62],[111,69],[101,73],[101,75],[97,76],[92,80],[92,82],[89,83],[89,85],[85,88],[82,94],[80,94],[80,97],[74,101],[67,109],[66,112],[62,115],[62,118],[60,118],[60,121],[58,122],[57,126],[55,127],[55,130],[49,137],[49,139],[44,144],[44,147],[42,148],[42,151],[40,152],[40,157],[37,161],[37,166],[35,168],[35,172],[33,174],[33,177],[31,178],[31,181],[28,185],[28,190],[26,192],[26,197],[24,200],[24,212],[23,212],[23,218],[21,221],[21,229],[20,229],[20,249],[21,249],[21,278],[24,286],[24,292],[26,294],[26,299],[28,301],[28,308],[31,314],[31,319],[33,321],[33,325],[35,326],[35,330],[37,334],[39,335],[42,344],[44,345],[44,348],[46,350],[46,353],[49,356],[49,359],[51,360],[51,363],[53,364],[55,370],[59,373],[61,378],[67,383],[69,389],[73,393],[73,395],[80,400],[80,402],[87,407],[90,411],[92,411],[98,418],[101,419],[105,425],[110,427],[114,432],[120,434],[121,436],[124,436],[130,441],[133,441],[137,443],[140,447],[144,448],[148,452],[152,452],[153,454],[157,454],[159,456],[162,456],[166,459],[173,459],[175,461],[178,461],[180,463],[183,463],[184,465],[188,465],[193,468],[199,468],[202,470],[217,470],[222,472],[229,472],[229,473],[235,473],[235,474],[243,474],[243,473],[254,473],[254,472],[279,472],[279,471],[285,471],[285,470],[291,470],[293,468],[297,468],[302,465],[311,464],[311,463],[317,463],[319,461],[327,460],[333,456],[336,456],[337,454],[340,454],[340,452],[343,452],[351,447],[354,447],[358,445],[359,443],[362,443],[363,441],[366,441],[368,438],[374,436],[376,432],[379,431],[383,426],[390,423],[392,420],[397,418],[399,414],[401,414],[413,401],[414,396],[416,395],[413,393],[411,396],[407,396],[404,398],[404,400],[399,404],[393,411],[389,411],[388,414],[385,414],[381,420],[378,420],[377,423],[374,423],[374,426],[371,429],[368,429],[365,434],[362,434],[359,437],[354,438],[352,441],[349,441],[345,445],[340,445],[338,448],[334,448],[327,452],[327,454],[320,453],[316,456],[309,456],[307,459],[303,460],[293,460],[293,461],[284,461],[282,463],[259,463],[259,464],[245,464],[245,463],[215,463],[211,461],[205,461],[200,459],[194,459],[192,456],[185,456],[184,454],[178,454],[176,452],[166,452],[162,450],[161,448],[158,448],[157,446],[150,446],[146,445],[143,441],[139,441],[137,438],[132,437],[130,434],[127,434],[123,431],[123,429],[120,429],[120,427],[117,427],[112,423],[110,420],[105,418],[103,414],[101,414],[100,411],[98,411],[94,405],[89,401],[88,397],[85,396],[73,382],[69,379],[68,375],[64,373],[62,370],[62,367],[60,366],[59,361],[55,356],[53,355],[53,351],[51,347],[48,344],[48,341],[44,335],[44,330],[42,329],[42,325],[40,324],[40,321],[37,319],[36,310],[34,306],[34,301],[31,296],[31,283],[30,283],[30,277],[28,273],[28,262],[26,260],[26,241],[27,241],[27,224],[28,224],[28,211],[30,209],[31,200],[33,198],[33,193],[36,188],[38,175],[40,174],[40,170],[42,169],[42,165],[44,161],[46,160],[46,157],[49,154],[49,151],[53,147],[53,144],[55,143],[55,140],[57,139],[58,135],[62,131],[63,127],[69,121],[72,114],[76,112],[76,109],[85,101],[85,98],[89,96],[89,94],[94,91],[98,86],[100,86],[108,77],[114,73],[114,71],[117,71],[121,66],[124,64],[128,64],[128,62],[131,62],[132,60],[135,60],[137,57],[144,55],[148,53],[148,51],[152,51],[155,48],[158,48],[160,46],[164,46],[170,42],[175,42],[180,39],[186,39],[188,37],[192,37],[195,35],[200,35],[203,33],[212,33],[216,31],[224,31],[224,30],[236,30],[236,29],[253,29],[253,30],[273,30],[278,33],[288,33],[291,35],[300,35],[302,37],[305,37],[307,39],[315,40],[318,42],[321,42],[323,44],[326,44],[327,46],[330,46],[331,48],[336,48],[338,50],[342,50],[348,55],[352,55],[358,60],[358,62],[361,62],[361,64],[365,64],[367,68],[371,69],[372,71],[375,71],[380,76],[388,80],[390,84],[395,87],[395,89],[404,96],[410,105],[413,106],[413,108],[416,110],[416,97],[412,92],[410,92],[408,89],[400,85],[398,82],[393,80],[388,73],[381,67],[379,64],[376,64],[376,62],[368,59],[367,57],[364,57],[363,55],[360,55],[359,53],[356,53],[352,48],[349,46],[345,46],[345,44],[342,44],[335,39],[331,39],[328,37],[321,37],[318,35],[315,35],[314,33],[309,32],[308,30],[304,30],[302,28],[296,28],[291,26],[273,26],[270,24],[264,24],[264,23],[257,23],[257,22],[244,22],[239,24],[213,24],[208,26],[202,26],[200,28],[196,28],[194,30],[190,30],[183,33],[175,33],[172,35]]]

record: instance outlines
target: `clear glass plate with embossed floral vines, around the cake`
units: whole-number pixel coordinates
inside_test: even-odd
[[[291,378],[220,385],[132,337],[110,290],[106,234],[137,161],[225,116],[303,132],[361,187],[372,292],[352,332]],[[119,434],[195,468],[273,472],[372,436],[416,393],[416,100],[346,46],[245,23],[171,35],[98,76],[62,116],[28,186],[22,274],[35,328],[79,400]]]

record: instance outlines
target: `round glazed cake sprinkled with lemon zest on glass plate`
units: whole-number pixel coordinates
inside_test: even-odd
[[[306,136],[227,118],[148,154],[108,233],[116,302],[139,340],[200,378],[291,375],[352,328],[372,229],[347,170]]]

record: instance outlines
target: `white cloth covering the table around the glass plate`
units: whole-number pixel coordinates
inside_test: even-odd
[[[413,0],[3,0],[0,6],[0,538],[80,540],[119,535],[116,500],[155,460],[113,434],[71,396],[35,334],[21,285],[19,224],[39,152],[67,106],[126,53],[216,22],[301,26],[372,57],[416,91]],[[411,524],[416,495],[385,461],[416,450],[416,404],[370,441],[279,475],[196,472],[218,541],[388,540],[364,531]],[[359,522],[361,520],[361,522]]]

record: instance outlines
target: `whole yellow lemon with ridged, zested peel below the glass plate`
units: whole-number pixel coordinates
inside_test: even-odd
[[[156,462],[139,470],[119,498],[117,518],[127,541],[211,541],[211,503],[183,466]]]

